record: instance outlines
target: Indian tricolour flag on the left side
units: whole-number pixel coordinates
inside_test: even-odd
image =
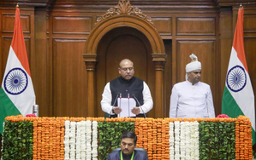
[[[20,9],[17,7],[14,37],[0,89],[0,133],[3,134],[5,117],[32,114],[34,104],[35,94],[21,27]]]

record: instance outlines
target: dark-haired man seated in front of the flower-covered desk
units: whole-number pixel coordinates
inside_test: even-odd
[[[128,131],[122,134],[121,151],[112,152],[107,160],[148,160],[146,152],[135,151],[137,136],[134,132]]]

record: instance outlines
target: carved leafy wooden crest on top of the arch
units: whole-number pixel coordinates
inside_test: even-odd
[[[115,8],[108,9],[106,14],[98,17],[95,25],[97,25],[98,22],[101,22],[102,20],[114,16],[115,14],[132,14],[140,17],[143,20],[148,21],[150,24],[152,24],[152,26],[154,25],[152,22],[152,18],[147,16],[146,14],[142,14],[141,10],[132,6],[129,0],[120,0]]]

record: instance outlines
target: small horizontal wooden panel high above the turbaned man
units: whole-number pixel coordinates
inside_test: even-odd
[[[176,18],[177,35],[215,35],[214,17],[178,17]]]

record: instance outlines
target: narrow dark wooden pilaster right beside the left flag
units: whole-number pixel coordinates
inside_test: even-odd
[[[46,39],[46,14],[44,9],[35,10],[35,54],[33,54],[31,74],[36,103],[39,105],[39,117],[52,117],[51,94],[49,94],[51,85],[47,85],[52,78],[49,73],[52,63],[49,58],[49,43]]]

